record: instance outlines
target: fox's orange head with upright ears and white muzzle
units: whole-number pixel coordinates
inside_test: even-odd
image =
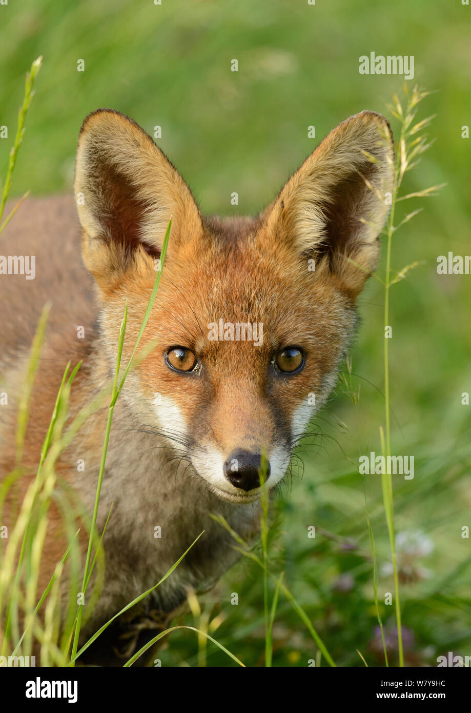
[[[145,337],[157,345],[120,398],[225,501],[284,477],[324,404],[376,269],[393,188],[388,122],[363,111],[331,131],[257,217],[204,217],[180,174],[128,117],[98,110],[78,140],[83,257],[115,369],[129,359],[172,228]]]

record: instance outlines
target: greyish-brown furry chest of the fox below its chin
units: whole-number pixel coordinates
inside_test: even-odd
[[[98,509],[100,532],[111,509],[103,539],[105,585],[100,597],[107,609],[122,607],[154,587],[185,553],[154,590],[153,600],[168,612],[185,600],[188,588],[210,588],[238,558],[232,535],[211,515],[222,515],[242,537],[257,528],[256,506],[219,501],[190,473],[191,466],[165,465],[168,451],[167,458],[156,456],[150,443],[155,446],[140,438],[135,458],[126,456],[123,448],[118,455],[110,443]],[[98,468],[94,470],[87,478],[83,473],[79,483],[90,513],[98,479]]]

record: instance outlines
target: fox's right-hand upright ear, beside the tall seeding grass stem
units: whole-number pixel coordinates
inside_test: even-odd
[[[316,272],[336,275],[356,297],[378,265],[393,181],[388,121],[363,111],[306,159],[269,207],[267,225],[278,239],[293,241],[300,255],[314,258]]]

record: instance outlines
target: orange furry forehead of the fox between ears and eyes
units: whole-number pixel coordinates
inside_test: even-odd
[[[354,321],[348,297],[330,276],[318,277],[307,258],[277,242],[276,235],[257,232],[256,219],[213,221],[212,230],[185,240],[180,250],[170,245],[147,334],[165,347],[189,347],[209,360],[240,352],[252,364],[266,360],[274,349],[296,344],[314,350],[327,368],[322,361],[338,357]],[[154,279],[150,270],[130,275],[120,290],[134,302],[136,319],[141,319]],[[240,339],[221,339],[225,324],[247,323],[252,338],[242,329]],[[217,336],[210,337],[214,327]]]

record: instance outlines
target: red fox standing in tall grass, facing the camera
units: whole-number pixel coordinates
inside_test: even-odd
[[[85,632],[155,585],[202,530],[154,603],[172,612],[187,588],[215,583],[237,555],[209,513],[244,537],[257,530],[262,453],[274,491],[353,337],[356,297],[378,263],[393,153],[387,120],[363,111],[328,134],[260,215],[205,217],[152,139],[99,109],[79,135],[75,201],[29,200],[1,235],[2,255],[36,258],[34,279],[0,275],[0,390],[9,396],[0,406],[2,476],[15,467],[31,338],[43,304],[53,305],[24,446],[28,483],[66,362],[83,361],[71,414],[113,375],[126,300],[123,364],[130,358],[172,217],[141,343],[157,347],[130,372],[115,407],[97,520],[101,531],[114,503],[105,583]],[[88,513],[107,413],[105,404],[88,419],[58,463]],[[40,588],[65,549],[58,510],[50,520]]]

